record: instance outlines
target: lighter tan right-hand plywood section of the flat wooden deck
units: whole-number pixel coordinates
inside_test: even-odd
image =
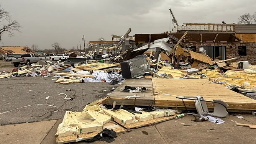
[[[231,110],[256,110],[256,100],[205,79],[154,79],[154,81],[157,92],[160,93],[155,95],[156,106],[184,108],[184,103],[182,100],[177,99],[176,95],[182,97],[196,97],[200,95],[208,101],[213,99],[223,100],[229,105],[228,109]],[[187,108],[195,107],[194,101],[184,100],[184,102]],[[208,108],[214,108],[214,103],[207,103],[207,106]]]

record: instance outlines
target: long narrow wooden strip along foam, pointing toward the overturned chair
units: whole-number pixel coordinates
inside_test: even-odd
[[[176,114],[176,115],[178,115],[178,114]],[[126,129],[140,128],[140,127],[146,126],[148,124],[160,123],[163,121],[168,121],[170,119],[174,119],[174,118],[176,118],[176,115],[175,116],[165,116],[162,118],[154,118],[154,119],[150,119],[148,121],[141,121],[141,122],[132,123],[132,124],[126,124],[126,125],[124,125],[124,127]]]

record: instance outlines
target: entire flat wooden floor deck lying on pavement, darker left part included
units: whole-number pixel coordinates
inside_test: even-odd
[[[125,85],[146,87],[149,90],[144,93],[121,92]],[[140,97],[136,99],[125,98],[132,95]],[[212,83],[205,79],[128,79],[108,96],[107,104],[116,101],[117,105],[184,108],[185,103],[187,108],[195,108],[194,101],[184,100],[183,103],[175,95],[183,97],[202,96],[208,101],[213,99],[223,100],[228,104],[229,110],[256,110],[256,100],[229,90],[224,85]],[[207,106],[208,108],[214,108],[214,103],[207,103]]]

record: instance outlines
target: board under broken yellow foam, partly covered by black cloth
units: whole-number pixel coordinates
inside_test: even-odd
[[[124,133],[127,130],[125,128],[122,128],[118,124],[116,124],[113,121],[110,121],[106,124],[104,124],[103,129],[113,129],[117,134]],[[84,141],[86,139],[92,139],[94,136],[96,136],[100,131],[87,133],[87,134],[78,134],[73,136],[65,136],[65,137],[56,137],[57,144],[66,144],[70,142],[78,142],[78,141]]]

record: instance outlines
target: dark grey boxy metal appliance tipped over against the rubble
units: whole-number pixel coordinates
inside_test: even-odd
[[[130,79],[144,75],[148,71],[147,56],[140,55],[121,62],[123,78]]]

